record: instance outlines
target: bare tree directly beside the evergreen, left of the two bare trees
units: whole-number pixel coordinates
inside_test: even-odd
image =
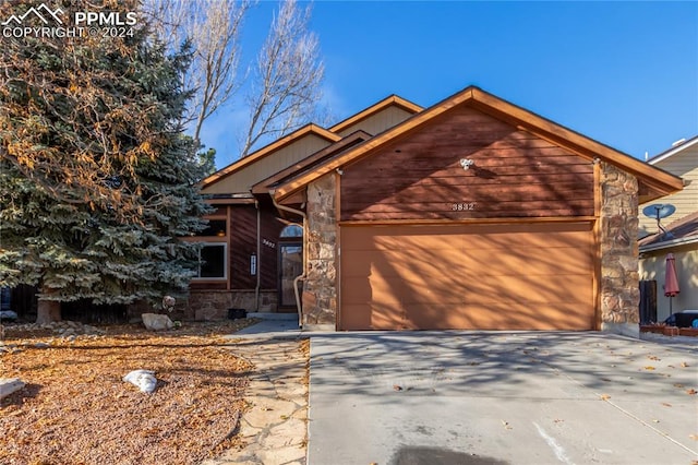
[[[204,121],[239,90],[240,33],[250,1],[242,0],[146,0],[144,11],[170,46],[189,40],[192,64],[184,86],[194,91],[188,105],[185,123],[193,124],[200,143]]]

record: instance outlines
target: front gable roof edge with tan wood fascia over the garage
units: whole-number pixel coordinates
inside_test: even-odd
[[[384,144],[419,129],[440,115],[443,115],[459,105],[469,105],[477,110],[492,116],[493,118],[510,123],[531,132],[541,139],[566,147],[580,156],[589,159],[600,158],[633,174],[637,177],[641,194],[645,196],[641,202],[653,200],[683,189],[682,179],[674,175],[640,162],[637,158],[503,100],[480,90],[479,87],[470,86],[412,116],[394,128],[377,134],[373,139],[356,146],[354,148],[345,152],[341,156],[328,160],[316,169],[278,186],[274,193],[275,199],[280,200],[290,195],[294,191],[302,189],[309,182],[326,175],[333,169],[340,168],[342,165],[358,160],[371,154]]]

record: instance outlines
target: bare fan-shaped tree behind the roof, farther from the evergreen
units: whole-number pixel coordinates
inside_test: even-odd
[[[246,99],[250,124],[242,156],[261,140],[300,126],[321,98],[324,65],[317,36],[309,32],[310,15],[310,7],[300,10],[296,0],[287,0],[272,22]]]

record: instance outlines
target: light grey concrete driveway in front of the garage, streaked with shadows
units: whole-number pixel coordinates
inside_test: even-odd
[[[308,464],[690,465],[697,349],[601,333],[313,336]]]

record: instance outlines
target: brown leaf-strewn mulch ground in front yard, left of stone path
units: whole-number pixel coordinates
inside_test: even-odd
[[[2,464],[193,464],[236,446],[250,363],[225,348],[246,320],[141,325],[58,338],[5,326],[0,377],[27,385],[0,401]],[[122,378],[156,372],[140,392]]]

